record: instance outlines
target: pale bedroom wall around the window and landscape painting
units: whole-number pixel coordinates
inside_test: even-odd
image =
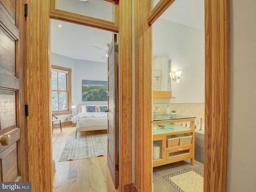
[[[56,66],[62,66],[72,69],[72,103],[76,106],[73,109],[75,114],[78,113],[78,104],[107,104],[107,101],[82,102],[82,80],[108,80],[108,64],[104,62],[95,62],[87,60],[76,60],[61,56],[58,54],[51,54],[51,64]],[[68,116],[68,115],[66,115]],[[58,116],[63,121],[66,121],[65,116]]]

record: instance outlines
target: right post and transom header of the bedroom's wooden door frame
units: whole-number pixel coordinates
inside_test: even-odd
[[[132,1],[114,0],[115,21],[118,23],[108,24],[100,20],[90,20],[89,17],[77,17],[77,14],[66,14],[63,11],[56,10],[49,0],[50,18],[100,28],[118,33],[118,98],[119,110],[119,190],[131,191],[134,188],[132,182]]]

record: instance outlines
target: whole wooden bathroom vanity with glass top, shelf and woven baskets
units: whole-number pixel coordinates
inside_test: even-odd
[[[185,159],[190,159],[190,164],[194,165],[195,118],[183,115],[153,117],[153,167]],[[175,144],[178,137],[179,142]]]

